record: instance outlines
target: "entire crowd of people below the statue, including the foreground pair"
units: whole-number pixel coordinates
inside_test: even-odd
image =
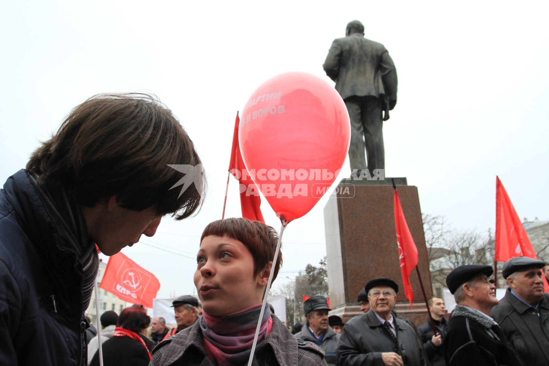
[[[186,189],[170,189],[183,173],[167,164],[200,164],[169,109],[149,95],[97,95],[8,178],[0,192],[0,366],[99,365],[98,330],[84,314],[96,245],[114,255],[154,235],[163,216],[191,216],[204,199],[201,175]],[[275,280],[282,265],[282,251],[273,262],[277,241],[276,230],[258,221],[208,224],[194,274],[200,302],[173,301],[172,329],[163,318],[151,322],[139,305],[103,313],[103,364],[236,366],[250,357],[267,366],[549,364],[544,262],[506,262],[500,302],[490,266],[454,269],[446,283],[456,308],[448,318],[444,300],[432,297],[432,320],[417,328],[394,311],[393,279],[369,280],[357,298],[363,314],[346,323],[328,316],[325,297],[312,296],[294,335],[270,307],[260,319],[271,270]]]

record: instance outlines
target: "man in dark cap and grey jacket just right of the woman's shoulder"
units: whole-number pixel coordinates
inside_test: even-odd
[[[295,334],[297,339],[315,342],[326,353],[324,359],[329,366],[335,366],[335,351],[340,335],[328,325],[328,301],[324,296],[312,296],[303,303],[307,323]]]

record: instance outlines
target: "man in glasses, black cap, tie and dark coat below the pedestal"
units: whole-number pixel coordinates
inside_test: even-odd
[[[370,310],[345,324],[337,351],[338,366],[422,366],[423,345],[412,327],[391,313],[399,286],[376,278],[365,286]]]

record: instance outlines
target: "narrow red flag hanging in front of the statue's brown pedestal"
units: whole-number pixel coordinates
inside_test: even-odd
[[[404,293],[406,298],[410,300],[410,308],[412,308],[413,291],[410,284],[410,273],[417,266],[417,247],[413,242],[408,224],[406,224],[406,218],[400,205],[399,193],[396,192],[396,189],[394,201],[396,243],[399,245],[400,272],[402,273],[402,283],[404,283]]]

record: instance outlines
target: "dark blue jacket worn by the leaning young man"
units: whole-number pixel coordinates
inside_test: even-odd
[[[0,190],[0,366],[85,366],[82,263],[67,238],[26,171],[9,177]]]

